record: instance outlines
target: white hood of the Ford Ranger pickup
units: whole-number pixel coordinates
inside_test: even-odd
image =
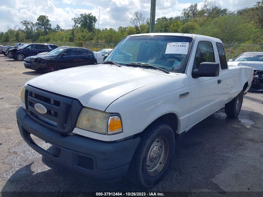
[[[116,99],[180,73],[100,64],[68,68],[35,77],[27,84],[78,99],[83,106],[105,111]]]

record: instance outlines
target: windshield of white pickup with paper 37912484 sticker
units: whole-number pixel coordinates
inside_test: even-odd
[[[114,61],[120,65],[147,63],[171,72],[184,73],[192,41],[191,37],[185,36],[126,37],[105,61]]]

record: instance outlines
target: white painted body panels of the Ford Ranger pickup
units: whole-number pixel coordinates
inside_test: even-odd
[[[222,43],[219,39],[175,33],[141,35],[192,37],[193,46],[190,50],[186,72],[167,74],[154,69],[100,64],[41,75],[28,81],[25,86],[30,84],[76,98],[83,106],[96,110],[119,113],[123,133],[105,135],[79,128],[73,130],[74,133],[103,141],[115,141],[138,134],[154,120],[168,113],[176,115],[178,121],[176,132],[180,134],[222,108],[242,91],[246,83],[248,83],[248,88],[251,86],[253,69],[245,66],[229,66],[224,70],[220,68],[218,77],[192,77],[198,42],[211,42],[215,62],[219,63],[216,48],[216,42]],[[221,80],[220,84],[218,80]],[[234,87],[232,87],[233,80],[235,80]],[[188,92],[189,96],[180,99],[181,94],[188,95]]]

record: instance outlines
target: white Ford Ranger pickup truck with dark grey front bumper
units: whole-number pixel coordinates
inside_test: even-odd
[[[219,39],[130,35],[102,64],[26,82],[17,122],[26,143],[61,166],[103,181],[128,173],[150,187],[167,172],[179,135],[222,107],[239,114],[252,78],[253,68],[227,65]]]

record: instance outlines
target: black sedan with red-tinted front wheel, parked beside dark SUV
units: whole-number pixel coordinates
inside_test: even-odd
[[[81,47],[56,48],[45,55],[27,57],[25,68],[53,72],[62,68],[96,64],[91,50]]]

